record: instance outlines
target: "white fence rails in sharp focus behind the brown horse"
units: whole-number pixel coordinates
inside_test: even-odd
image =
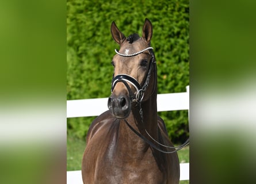
[[[98,116],[108,110],[108,98],[75,99],[67,101],[67,118]],[[189,110],[189,86],[184,93],[158,94],[157,109],[161,111]],[[180,181],[189,180],[189,163],[180,163]],[[67,171],[68,184],[83,184],[81,171]]]

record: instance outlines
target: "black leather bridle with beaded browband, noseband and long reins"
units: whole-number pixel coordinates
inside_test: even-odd
[[[140,53],[143,53],[144,51],[147,51],[149,50],[150,54],[151,54],[151,62],[150,62],[150,66],[149,66],[149,69],[148,69],[148,73],[147,73],[147,78],[146,80],[144,81],[144,84],[141,86],[140,83],[135,79],[133,78],[132,76],[130,75],[127,75],[127,74],[119,74],[119,75],[116,75],[114,77],[114,74],[113,74],[113,79],[112,79],[112,86],[111,86],[111,93],[113,92],[114,90],[114,87],[116,86],[116,84],[118,82],[123,82],[124,85],[127,87],[128,91],[129,91],[129,97],[131,99],[131,102],[137,102],[137,104],[139,105],[139,113],[140,113],[140,118],[141,118],[141,121],[142,121],[142,124],[143,124],[143,127],[144,127],[144,131],[147,133],[147,135],[153,140],[155,141],[155,143],[161,145],[162,147],[165,147],[165,148],[172,148],[172,149],[175,149],[174,151],[165,151],[165,150],[161,150],[159,147],[156,147],[155,144],[153,144],[150,140],[148,140],[146,137],[144,137],[141,133],[137,132],[129,123],[127,120],[124,120],[125,123],[128,125],[128,127],[137,135],[139,136],[141,139],[143,139],[146,143],[148,143],[151,147],[155,148],[155,150],[158,150],[160,152],[163,152],[165,154],[172,154],[174,152],[177,152],[178,150],[181,150],[182,148],[184,148],[186,145],[189,144],[189,139],[187,139],[185,141],[184,144],[182,145],[179,145],[178,147],[170,147],[170,146],[167,146],[167,145],[163,145],[161,143],[159,143],[158,141],[156,141],[146,130],[145,126],[144,126],[144,122],[143,122],[143,111],[142,111],[142,99],[144,97],[144,93],[145,91],[147,90],[147,87],[149,85],[149,82],[150,82],[150,76],[151,76],[151,71],[152,71],[152,66],[153,64],[155,64],[155,54],[154,54],[154,51],[153,51],[153,48],[152,47],[147,47],[145,49],[143,49],[142,51],[139,51],[139,52],[136,52],[136,53],[132,53],[132,54],[123,54],[123,53],[120,53],[117,49],[114,49],[114,51],[120,55],[120,56],[123,56],[123,57],[132,57],[132,56],[136,56],[136,55],[139,55]],[[155,81],[154,81],[155,82]],[[130,83],[133,87],[135,87],[136,89],[136,93],[132,93],[132,90],[131,90],[131,87],[129,87],[128,83]],[[154,85],[155,86],[155,85]],[[154,89],[155,90],[155,89]],[[153,91],[154,91],[153,90]]]

